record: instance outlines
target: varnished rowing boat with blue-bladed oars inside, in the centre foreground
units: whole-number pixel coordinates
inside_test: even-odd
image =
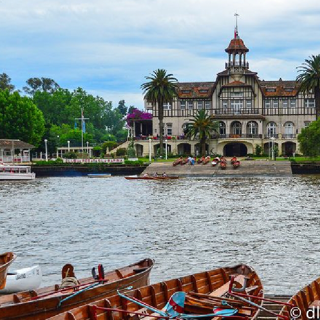
[[[234,277],[233,277],[234,276]],[[233,279],[231,283],[231,280]],[[215,306],[223,307],[223,300],[227,301],[229,305],[237,308],[237,314],[246,316],[248,319],[256,319],[259,309],[250,303],[242,302],[237,299],[232,299],[228,296],[229,286],[235,285],[241,288],[241,292],[251,294],[255,297],[252,302],[258,306],[262,306],[263,286],[254,269],[245,264],[239,264],[234,267],[219,268],[211,271],[200,272],[178,279],[160,282],[155,285],[130,290],[96,301],[95,303],[87,304],[75,308],[69,312],[65,312],[58,316],[51,318],[51,320],[137,320],[137,319],[155,319],[157,313],[150,310],[155,308],[161,310],[164,308],[174,293],[183,292],[185,294],[184,312],[197,315],[212,313]],[[142,301],[142,305],[129,301],[126,297]],[[125,298],[124,298],[125,297]],[[250,301],[249,301],[250,302]],[[147,303],[148,308],[143,305]],[[171,302],[170,302],[171,303]],[[178,310],[179,305],[174,306]],[[101,308],[101,309],[99,309]],[[125,312],[105,310],[105,308],[125,310]],[[162,309],[163,310],[163,309]],[[144,317],[137,317],[133,314],[141,313]],[[163,317],[158,318],[163,319]],[[213,318],[213,317],[211,317]],[[176,319],[176,318],[174,318]],[[179,318],[184,319],[184,318]],[[214,318],[222,319],[222,318]],[[245,319],[245,318],[243,318]]]

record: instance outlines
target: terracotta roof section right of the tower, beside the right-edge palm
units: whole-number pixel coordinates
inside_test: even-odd
[[[264,81],[259,80],[261,90],[265,96],[296,96],[299,92],[299,83],[296,81]],[[268,89],[275,90],[274,92],[268,92]],[[292,89],[292,91],[286,91],[286,89]]]

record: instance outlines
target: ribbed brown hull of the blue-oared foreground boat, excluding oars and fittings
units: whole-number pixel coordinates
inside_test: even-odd
[[[219,268],[211,271],[200,272],[192,274],[190,276],[164,281],[151,286],[127,291],[126,295],[137,298],[140,301],[143,300],[145,303],[148,303],[149,305],[152,305],[157,309],[161,309],[165,306],[170,296],[178,291],[193,291],[193,294],[200,295],[209,294],[213,291],[217,292],[218,294],[218,290],[220,290],[220,293],[225,290],[227,291],[229,286],[229,276],[235,274],[247,276],[249,279],[247,286],[255,288],[251,294],[263,297],[263,286],[259,277],[251,267],[244,264],[236,265],[234,267]],[[256,298],[253,298],[253,302],[257,303],[258,305],[262,305],[261,300],[258,300]],[[102,308],[128,310],[130,312],[137,312],[138,310],[141,310],[141,307],[136,303],[126,301],[119,295],[114,295],[112,297],[109,297],[108,299],[96,301],[94,304],[87,304],[82,307],[75,308],[68,313],[63,313],[55,316],[51,318],[51,320],[94,320],[95,318],[93,316],[92,305],[96,305]],[[196,307],[196,305],[193,305],[193,307]],[[258,311],[259,309],[253,308],[250,319],[256,319]],[[97,315],[99,320],[138,319],[128,314],[122,314],[120,312],[111,313],[104,310],[97,310]],[[148,319],[152,318],[150,317]]]

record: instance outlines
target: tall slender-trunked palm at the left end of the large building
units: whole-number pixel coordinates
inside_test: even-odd
[[[155,108],[158,105],[159,135],[160,135],[160,156],[163,153],[163,103],[172,102],[177,96],[177,79],[171,73],[167,74],[165,69],[153,71],[150,76],[145,77],[149,82],[143,83],[144,98]]]

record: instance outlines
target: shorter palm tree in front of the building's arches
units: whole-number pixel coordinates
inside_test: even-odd
[[[201,156],[205,156],[206,153],[206,139],[210,137],[211,131],[218,133],[219,122],[213,121],[205,109],[198,110],[193,119],[189,120],[191,123],[187,127],[187,137],[191,139],[195,138],[199,134]]]

